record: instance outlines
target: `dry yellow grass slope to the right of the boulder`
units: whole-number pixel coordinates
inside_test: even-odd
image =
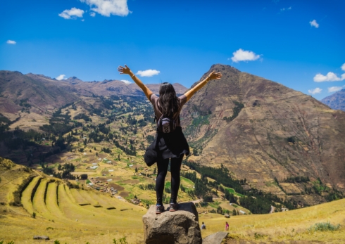
[[[345,226],[344,205],[345,199],[289,212],[241,215],[230,219],[219,214],[200,214],[199,221],[204,221],[207,226],[203,236],[224,231],[227,221],[230,224],[230,235],[242,240],[318,240],[325,243],[341,243],[340,240],[345,240],[344,227],[339,231],[315,233],[309,233],[308,228],[313,224],[327,221]]]

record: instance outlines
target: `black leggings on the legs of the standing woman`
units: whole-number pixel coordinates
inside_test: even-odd
[[[180,188],[180,169],[184,154],[180,158],[171,158],[171,198],[170,203],[176,203],[177,193]],[[165,176],[168,171],[169,158],[157,162],[158,174],[156,179],[157,203],[163,204],[163,191],[165,186]]]

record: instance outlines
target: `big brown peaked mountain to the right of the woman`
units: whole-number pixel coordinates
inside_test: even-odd
[[[256,188],[281,195],[285,193],[275,177],[283,181],[309,176],[345,189],[344,112],[228,65],[213,65],[209,72],[213,70],[222,72],[222,78],[206,84],[182,110],[190,145],[202,150],[190,160],[215,167],[223,164],[237,179],[246,178]],[[233,115],[234,101],[244,108],[227,122],[224,118]],[[284,191],[304,191],[292,185]],[[320,201],[318,196],[304,200]]]

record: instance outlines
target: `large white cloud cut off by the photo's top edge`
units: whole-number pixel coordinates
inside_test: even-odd
[[[109,17],[110,15],[127,16],[127,0],[80,0],[91,7],[91,10],[100,15]]]

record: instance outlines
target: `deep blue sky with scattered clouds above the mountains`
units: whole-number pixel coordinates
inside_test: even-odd
[[[2,0],[0,7],[0,70],[130,80],[117,71],[127,64],[146,84],[189,87],[222,63],[317,99],[345,88],[341,0]]]

